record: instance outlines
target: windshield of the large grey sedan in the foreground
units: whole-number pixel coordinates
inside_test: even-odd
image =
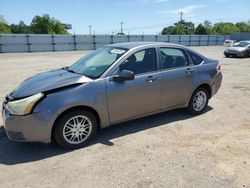
[[[119,59],[127,49],[104,47],[84,56],[71,67],[69,71],[82,74],[86,77],[99,78],[110,65]]]

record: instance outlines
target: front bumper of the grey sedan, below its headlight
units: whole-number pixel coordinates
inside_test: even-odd
[[[10,140],[23,142],[51,142],[50,111],[25,116],[13,116],[3,107],[3,124]]]

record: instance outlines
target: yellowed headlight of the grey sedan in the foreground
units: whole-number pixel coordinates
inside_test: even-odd
[[[27,115],[31,112],[33,106],[44,96],[38,93],[30,97],[7,103],[7,109],[13,115]]]

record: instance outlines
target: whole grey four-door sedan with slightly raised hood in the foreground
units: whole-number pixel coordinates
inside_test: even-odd
[[[79,148],[120,122],[176,108],[201,114],[221,81],[217,60],[181,45],[108,45],[26,79],[3,102],[4,127],[11,140]]]

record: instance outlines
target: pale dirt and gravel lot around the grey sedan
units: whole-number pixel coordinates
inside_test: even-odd
[[[194,49],[223,67],[206,113],[175,110],[123,123],[76,151],[11,142],[0,127],[0,187],[250,187],[250,58]],[[85,53],[0,54],[1,99],[28,76]]]

